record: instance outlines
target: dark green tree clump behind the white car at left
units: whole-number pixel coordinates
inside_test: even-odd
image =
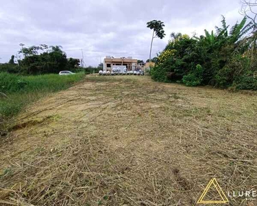
[[[79,60],[66,58],[61,46],[39,45],[22,47],[19,54],[23,59],[14,63],[14,56],[9,63],[0,65],[0,71],[8,73],[20,73],[25,75],[38,75],[44,73],[58,73],[62,70],[76,71]]]

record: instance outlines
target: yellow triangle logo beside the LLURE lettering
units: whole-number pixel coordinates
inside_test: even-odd
[[[213,197],[212,195],[214,193],[216,194],[215,197]],[[210,180],[210,182],[204,189],[204,192],[201,194],[199,200],[197,201],[197,204],[225,204],[225,203],[229,203],[228,198],[227,196],[225,196],[223,190],[221,189],[221,186],[219,186],[219,183],[215,178]]]

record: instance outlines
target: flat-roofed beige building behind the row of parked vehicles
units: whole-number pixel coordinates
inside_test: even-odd
[[[134,71],[136,69],[138,60],[133,59],[132,56],[114,58],[113,56],[106,56],[103,59],[103,71],[112,71],[112,67],[117,65],[126,66],[127,71]]]

